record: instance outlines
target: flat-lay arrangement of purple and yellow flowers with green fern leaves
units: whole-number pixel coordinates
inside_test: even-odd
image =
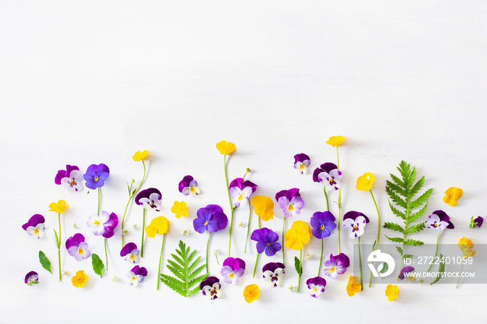
[[[83,172],[83,169],[78,165],[67,164],[65,168],[53,172],[54,184],[62,186],[67,191],[65,197],[58,202],[39,206],[39,213],[26,217],[23,225],[19,224],[19,227],[22,227],[32,239],[42,240],[52,237],[55,243],[55,247],[52,247],[51,250],[39,251],[39,262],[33,262],[32,269],[26,269],[24,283],[29,286],[33,284],[39,286],[38,284],[42,283],[42,277],[53,274],[51,262],[54,264],[54,268],[57,268],[54,273],[58,275],[59,282],[63,282],[63,275],[69,276],[70,273],[61,268],[61,260],[72,257],[79,262],[89,262],[93,267],[93,273],[83,267],[84,270],[77,269],[71,274],[72,286],[83,288],[90,285],[90,277],[94,274],[99,275],[102,280],[110,280],[106,279],[106,275],[104,275],[109,270],[109,255],[115,257],[120,255],[120,260],[128,263],[125,264],[128,285],[137,286],[145,282],[145,277],[148,274],[143,265],[156,263],[156,259],[146,260],[149,258],[147,255],[144,256],[146,238],[159,242],[157,245],[161,246],[157,264],[158,273],[152,276],[152,278],[157,277],[157,282],[153,283],[157,290],[159,290],[159,283],[163,283],[184,297],[199,293],[209,300],[218,300],[225,298],[225,285],[234,284],[238,286],[241,277],[247,276],[252,277],[253,284],[241,286],[241,297],[243,296],[243,299],[248,303],[260,298],[259,286],[263,284],[268,284],[276,289],[284,289],[282,286],[287,285],[289,291],[296,291],[296,293],[301,293],[305,289],[312,298],[320,298],[326,293],[327,284],[342,285],[343,293],[351,297],[364,291],[367,286],[374,289],[372,271],[369,274],[368,271],[367,273],[362,271],[360,245],[363,242],[360,240],[365,232],[372,232],[373,236],[376,236],[374,242],[367,242],[372,244],[372,252],[380,250],[379,240],[381,238],[383,240],[388,239],[397,245],[396,249],[401,257],[397,274],[398,280],[404,280],[408,273],[413,272],[413,266],[405,266],[404,261],[413,257],[415,246],[424,244],[414,238],[415,234],[424,229],[427,232],[434,232],[436,235],[434,258],[440,254],[442,259],[441,250],[438,248],[440,234],[456,227],[446,211],[428,211],[429,198],[433,189],[423,189],[425,177],[418,179],[416,168],[405,161],[401,161],[397,168],[399,174],[397,172],[390,173],[390,179],[386,181],[385,193],[389,198],[388,205],[391,212],[388,219],[383,217],[381,220],[378,204],[372,192],[375,177],[371,172],[365,172],[357,177],[356,188],[344,188],[343,186],[344,177],[352,177],[346,174],[346,168],[340,168],[339,147],[346,143],[345,140],[343,136],[330,137],[326,144],[329,145],[328,148],[330,149],[328,155],[333,156],[333,158],[330,161],[320,161],[323,163],[316,164],[314,170],[312,168],[313,162],[308,154],[298,153],[289,156],[289,172],[298,172],[303,177],[308,177],[312,190],[321,190],[321,188],[323,190],[322,197],[324,199],[321,202],[321,210],[314,211],[311,214],[303,212],[306,202],[301,197],[300,188],[276,188],[275,195],[272,197],[261,195],[259,185],[249,179],[252,172],[248,168],[244,170],[242,177],[228,179],[227,161],[237,147],[225,140],[216,143],[217,151],[223,155],[223,176],[215,181],[221,181],[222,184],[225,184],[228,204],[224,206],[218,204],[201,205],[199,209],[194,211],[189,211],[184,200],[176,200],[171,204],[163,200],[163,195],[166,193],[161,192],[158,188],[143,187],[147,175],[146,163],[150,157],[147,150],[136,152],[132,156],[134,162],[142,164],[143,173],[138,178],[139,180],[132,179],[127,182],[129,197],[128,200],[125,200],[126,203],[120,202],[120,206],[117,207],[117,210],[123,210],[119,215],[115,211],[101,209],[102,191],[105,190],[104,184],[111,181],[110,175],[113,170],[110,170],[104,163],[99,163],[88,165],[86,171]],[[293,158],[294,165],[291,164]],[[319,159],[323,158],[320,156]],[[292,170],[293,167],[294,171]],[[175,185],[174,191],[179,191],[178,195],[181,195],[185,200],[198,201],[198,196],[202,191],[197,179],[191,175],[181,175],[179,179],[181,180],[177,184],[177,188]],[[347,190],[368,191],[372,198],[371,205],[373,203],[376,209],[376,216],[375,214],[366,216],[360,211],[360,206],[351,208],[353,205],[351,202],[347,202],[347,206],[342,206],[342,191]],[[93,205],[93,213],[84,218],[77,218],[76,221],[79,224],[86,224],[93,236],[91,234],[86,236],[81,233],[67,236],[61,232],[63,228],[61,224],[65,222],[65,215],[70,214],[70,208],[72,208],[69,204],[70,195],[80,195],[86,191],[95,193],[97,198],[93,202],[92,194],[86,202],[90,206]],[[461,188],[447,188],[445,196],[442,197],[445,210],[456,206],[462,195]],[[141,236],[138,238],[129,236],[129,227],[127,227],[126,222],[129,216],[128,207],[132,203],[135,203],[136,209],[139,210],[138,216],[131,216],[132,219],[137,218],[138,224],[141,225]],[[169,215],[167,214],[167,218],[162,216],[160,213],[163,208],[165,213],[170,210],[176,219],[168,220]],[[45,213],[45,215],[43,216],[41,213]],[[232,238],[232,231],[235,230],[234,225],[236,224],[234,216],[237,213],[244,213],[245,219],[248,213],[247,222],[238,224],[239,227],[247,227],[245,243],[237,241],[235,237]],[[53,217],[56,214],[58,216],[57,222]],[[174,240],[177,237],[175,242],[179,241],[178,248],[164,254],[164,243],[169,238],[170,223],[177,222],[182,217],[191,218],[193,226],[184,229],[182,233],[172,233],[170,239]],[[270,228],[270,226],[265,225],[273,218],[282,218],[282,229]],[[378,221],[378,227],[372,228],[369,225],[371,219]],[[72,219],[70,219],[71,221]],[[472,216],[469,227],[472,229],[479,228],[483,221],[484,219],[481,216]],[[138,225],[134,225],[134,228],[136,226]],[[77,225],[74,225],[74,228],[76,229]],[[385,229],[383,231],[385,234],[382,233],[382,236],[381,229]],[[191,248],[184,243],[184,237],[190,233],[198,236],[200,241],[198,249]],[[333,239],[337,240],[337,244],[333,244],[333,246],[337,246],[337,250],[328,248],[332,235]],[[121,246],[117,244],[118,246],[115,247],[115,244],[107,244],[107,240],[113,236],[121,238]],[[227,252],[227,257],[218,260],[220,250],[209,251],[211,236],[227,239],[228,250],[223,251]],[[352,270],[349,267],[351,266],[352,252],[344,251],[340,244],[341,241],[347,239],[353,240],[358,245],[359,273],[351,273]],[[94,251],[90,249],[90,244],[95,243],[96,240],[102,241],[103,250]],[[321,245],[321,250],[310,251],[307,245],[312,240],[318,240],[313,242],[319,242],[318,245]],[[255,255],[255,264],[246,264],[241,259],[241,255],[232,254],[234,252],[232,246],[236,244],[245,247],[244,254]],[[200,248],[203,246],[206,249]],[[461,250],[458,255],[461,255],[463,259],[473,257],[475,254],[474,244],[469,238],[459,238],[458,248]],[[286,254],[291,254],[292,250],[298,252],[299,257],[294,257],[294,259],[287,257]],[[101,257],[95,252],[99,252]],[[305,277],[302,280],[305,266],[303,260],[311,259],[312,252],[319,255],[318,267],[310,270],[316,276]],[[169,257],[163,258],[163,255],[168,254],[170,254]],[[218,268],[214,267],[215,260],[212,259],[211,254],[214,254]],[[41,270],[39,265],[45,270]],[[167,270],[161,271],[161,266],[162,269],[166,268]],[[286,282],[286,274],[294,272],[292,269],[296,270],[297,281],[289,278]],[[428,272],[430,270],[431,266]],[[445,271],[444,264],[440,264],[438,269],[438,272],[442,271]],[[348,282],[344,284],[343,281],[337,280],[339,277],[343,277]],[[364,284],[367,279],[368,284]],[[114,275],[111,280],[116,282],[118,277]],[[440,277],[436,277],[431,284],[438,282],[438,280]],[[303,287],[301,286],[302,281]],[[376,284],[380,284],[380,282],[376,282]],[[171,293],[168,290],[166,292]],[[400,298],[399,287],[388,284],[384,295],[389,301],[398,300]]]

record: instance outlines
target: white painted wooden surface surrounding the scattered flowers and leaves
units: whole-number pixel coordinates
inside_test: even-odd
[[[458,289],[401,284],[399,299],[388,302],[383,284],[349,298],[347,273],[328,280],[321,299],[310,298],[304,282],[317,271],[315,239],[304,250],[314,258],[303,262],[302,292],[286,289],[297,279],[290,262],[283,287],[271,289],[251,277],[255,248],[243,254],[246,229],[236,225],[248,213],[238,210],[232,254],[248,268],[237,286],[223,286],[221,300],[182,298],[163,285],[156,291],[161,238],[147,238],[141,266],[149,275],[141,286],[129,286],[130,267],[118,256],[120,227],[109,239],[110,270],[103,279],[90,261],[78,263],[63,251],[70,275],[88,273],[88,285],[76,289],[70,277],[56,280],[51,233],[57,216],[47,209],[65,199],[71,207],[63,216],[64,238],[81,232],[90,250],[103,254],[102,239],[85,225],[96,195],[70,195],[54,184],[54,175],[67,163],[82,170],[106,163],[111,175],[102,189],[102,209],[120,216],[125,181],[142,175],[131,155],[148,149],[145,188],[161,190],[163,209],[147,218],[170,220],[163,264],[184,228],[191,230],[184,241],[203,255],[207,236],[192,228],[195,211],[209,203],[228,211],[223,156],[215,143],[237,145],[227,164],[229,177],[252,169],[248,179],[259,185],[258,194],[273,197],[301,188],[305,209],[298,219],[309,220],[324,210],[323,193],[310,174],[295,173],[292,156],[309,154],[313,169],[335,161],[335,151],[324,142],[343,135],[343,211],[359,210],[372,220],[362,242],[374,241],[377,222],[369,194],[356,191],[356,178],[374,173],[383,220],[394,220],[385,179],[405,159],[434,188],[429,211],[444,209],[456,224],[442,243],[462,236],[487,243],[485,228],[468,228],[470,216],[486,216],[486,14],[484,1],[1,1],[0,321],[451,323],[468,314],[470,322],[481,323],[486,302],[481,284]],[[184,175],[198,180],[199,197],[177,191]],[[464,191],[454,208],[442,202],[449,186]],[[183,199],[191,215],[177,220],[170,206]],[[282,213],[277,205],[275,211],[265,225],[280,232]],[[47,234],[40,241],[21,228],[34,213],[46,218]],[[140,207],[133,204],[126,221],[139,225],[129,236],[139,244]],[[221,261],[227,233],[211,238]],[[326,240],[326,253],[336,251],[336,236]],[[436,241],[426,231],[417,238]],[[343,245],[352,252],[353,241],[344,237]],[[38,250],[51,259],[54,275],[40,267]],[[289,261],[297,254],[286,255]],[[221,277],[211,257],[210,272]],[[260,268],[279,260],[280,254],[261,257]],[[23,284],[29,270],[38,271],[40,284]],[[164,265],[162,271],[168,273]],[[113,275],[120,281],[111,282]],[[250,283],[260,285],[261,297],[248,305],[242,292]]]

